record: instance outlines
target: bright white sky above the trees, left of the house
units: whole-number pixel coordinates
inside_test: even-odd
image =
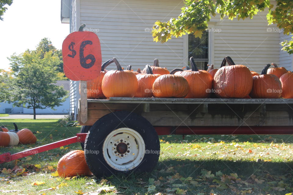
[[[69,24],[61,23],[60,9],[60,0],[13,0],[0,20],[0,69],[9,68],[7,57],[35,49],[44,37],[61,49]]]

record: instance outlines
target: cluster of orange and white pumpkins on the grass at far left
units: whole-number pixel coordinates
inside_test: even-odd
[[[37,137],[30,129],[18,130],[15,123],[15,129],[8,130],[5,126],[0,127],[0,146],[16,146],[18,144],[34,144]]]

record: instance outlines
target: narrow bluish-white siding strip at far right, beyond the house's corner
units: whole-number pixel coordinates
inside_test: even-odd
[[[280,42],[285,40],[291,40],[290,35],[284,35],[283,32],[280,32]],[[282,45],[280,48],[280,67],[285,67],[287,70],[292,71],[292,55],[289,55],[287,52],[282,51]]]

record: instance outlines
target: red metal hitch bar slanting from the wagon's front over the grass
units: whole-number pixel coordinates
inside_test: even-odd
[[[86,135],[87,135],[87,133],[76,133],[76,136],[74,136],[74,137],[67,138],[65,140],[56,141],[51,144],[46,144],[46,145],[35,147],[32,149],[28,149],[28,150],[25,150],[22,152],[17,152],[15,154],[10,154],[10,152],[0,154],[0,164],[2,164],[4,162],[10,162],[10,161],[13,161],[13,160],[16,160],[19,158],[24,158],[26,156],[30,156],[33,154],[38,154],[38,153],[41,153],[44,151],[52,150],[57,147],[66,146],[66,145],[74,144],[77,142],[83,143],[83,142],[85,142]]]

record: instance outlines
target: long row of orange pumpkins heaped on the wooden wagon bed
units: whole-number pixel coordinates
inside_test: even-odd
[[[113,62],[117,70],[106,71]],[[215,98],[293,98],[293,73],[275,63],[272,65],[272,68],[270,64],[264,66],[259,75],[246,66],[236,65],[226,56],[220,69],[211,65],[205,71],[197,69],[191,57],[191,67],[187,70],[169,72],[159,67],[155,59],[154,66],[147,65],[143,71],[135,72],[131,65],[124,70],[113,58],[102,65],[100,77],[87,82],[87,98],[210,98],[211,95]]]

